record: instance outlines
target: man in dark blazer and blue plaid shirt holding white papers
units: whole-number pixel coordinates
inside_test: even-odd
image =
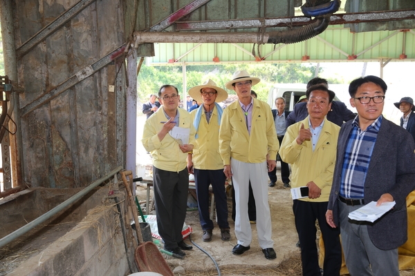
[[[376,76],[351,81],[350,104],[358,116],[342,126],[338,140],[326,221],[333,229],[340,226],[351,275],[399,276],[398,246],[407,240],[406,197],[415,188],[415,144],[409,132],[382,116],[386,90]],[[396,205],[374,223],[349,219],[349,213],[371,201]]]

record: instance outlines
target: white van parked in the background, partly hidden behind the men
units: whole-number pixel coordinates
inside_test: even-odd
[[[278,83],[273,86],[268,92],[268,100],[266,101],[271,109],[277,109],[275,106],[275,99],[282,97],[286,101],[286,111],[293,111],[295,103],[299,97],[306,95],[306,84],[304,83]],[[340,101],[337,96],[335,101]]]

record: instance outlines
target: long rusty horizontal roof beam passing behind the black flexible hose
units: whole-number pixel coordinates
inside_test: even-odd
[[[384,12],[356,12],[345,14],[333,14],[330,17],[331,25],[348,23],[396,21],[404,19],[415,19],[414,10],[391,10]],[[238,28],[270,28],[305,26],[313,23],[308,17],[281,17],[268,19],[235,19],[235,20],[212,20],[212,21],[185,21],[176,22],[176,30],[223,30]]]

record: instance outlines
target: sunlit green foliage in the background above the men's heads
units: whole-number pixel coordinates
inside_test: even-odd
[[[305,83],[313,78],[316,66],[304,63],[227,63],[186,66],[186,89],[199,86],[207,79],[212,79],[217,86],[225,89],[225,83],[232,79],[236,70],[247,70],[252,77],[261,79],[252,89],[257,92],[259,99],[266,101],[268,91],[276,83],[304,83],[305,86]],[[319,72],[322,72],[322,68],[319,68]],[[143,64],[138,75],[138,98],[142,102],[147,101],[148,96],[157,94],[163,84],[176,86],[183,99],[183,68]],[[228,90],[228,94],[235,92]]]

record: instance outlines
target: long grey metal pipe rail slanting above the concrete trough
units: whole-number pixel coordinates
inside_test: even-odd
[[[93,184],[91,184],[88,187],[84,188],[84,190],[81,190],[80,192],[73,195],[72,197],[69,197],[64,202],[62,202],[61,204],[59,204],[58,206],[53,208],[52,210],[49,210],[48,212],[44,213],[43,215],[41,215],[37,219],[34,219],[33,221],[30,221],[25,226],[22,226],[21,228],[15,230],[15,232],[10,233],[6,237],[3,237],[2,239],[0,239],[0,248],[3,247],[3,246],[6,246],[6,244],[12,242],[13,240],[17,239],[21,235],[24,235],[29,230],[32,230],[33,228],[35,228],[39,224],[42,224],[42,222],[46,221],[47,219],[50,219],[50,217],[53,217],[54,215],[56,215],[60,211],[64,210],[64,208],[66,208],[69,205],[73,204],[75,201],[77,201],[78,199],[80,199],[81,197],[86,195],[87,193],[91,192],[91,190],[93,190],[93,188],[95,188],[98,185],[102,184],[102,182],[109,179],[113,175],[116,175],[116,173],[120,172],[120,170],[122,170],[122,167],[118,167],[115,170],[111,170],[111,172],[109,172],[108,175],[106,175],[104,177],[101,177],[97,181],[93,182]]]

